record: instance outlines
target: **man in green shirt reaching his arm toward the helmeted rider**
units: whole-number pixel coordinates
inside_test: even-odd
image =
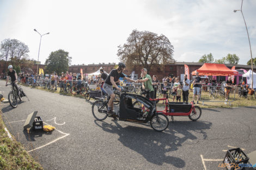
[[[142,87],[146,91],[146,98],[154,98],[154,88],[152,85],[152,79],[151,76],[148,74],[147,68],[143,68],[141,70],[143,79],[142,80],[137,80],[138,83],[143,83]]]

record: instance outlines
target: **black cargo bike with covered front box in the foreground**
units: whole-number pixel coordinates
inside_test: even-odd
[[[108,100],[97,100],[92,105],[93,116],[103,121],[107,117],[107,104]],[[119,111],[115,119],[118,121],[136,122],[136,123],[148,123],[150,122],[151,128],[156,131],[163,131],[169,125],[169,119],[163,113],[156,111],[156,102],[152,102],[149,99],[130,93],[120,94]]]

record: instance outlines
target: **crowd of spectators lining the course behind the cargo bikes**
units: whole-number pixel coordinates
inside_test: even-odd
[[[118,70],[118,69],[115,69],[115,70]],[[66,92],[67,90],[71,90],[71,89],[74,90],[75,88],[81,89],[82,87],[81,82],[87,81],[88,84],[100,85],[101,91],[103,91],[103,93],[108,93],[109,88],[107,87],[107,85],[113,86],[113,87],[117,85],[117,87],[115,88],[119,90],[120,89],[119,78],[124,78],[125,80],[127,80],[126,79],[127,77],[125,77],[125,75],[123,74],[123,70],[120,73],[116,71],[115,72],[112,72],[112,71],[111,73],[107,74],[102,68],[100,70],[100,73],[101,73],[100,75],[92,75],[90,77],[88,76],[88,74],[81,75],[81,74],[71,73],[68,71],[66,73],[62,72],[60,75],[58,75],[57,73],[52,73],[50,75],[46,74],[45,76],[42,74],[33,75],[29,73],[26,73],[26,74],[19,73],[19,76],[17,79],[19,83],[32,84],[32,85],[44,79],[45,81],[50,82],[51,89],[53,90],[57,90],[57,87],[59,86],[60,92]],[[108,75],[114,75],[113,77],[115,79],[113,81],[115,82],[115,84],[113,84],[112,80],[109,79]],[[233,84],[230,83],[231,80],[229,79],[227,81],[227,87],[225,87],[226,101],[227,101],[230,89],[233,86]],[[105,81],[107,82],[105,83]],[[182,98],[184,103],[188,102],[188,95],[189,95],[190,89],[193,90],[193,102],[195,99],[197,99],[197,103],[198,103],[201,86],[203,84],[209,83],[208,79],[205,79],[205,81],[202,83],[202,79],[198,76],[198,73],[196,73],[196,77],[193,78],[193,81],[190,81],[187,78],[187,75],[185,74],[184,79],[182,81],[180,81],[179,77],[164,77],[162,79],[162,82],[160,82],[157,79],[156,75],[153,75],[153,77],[151,78],[151,75],[148,74],[148,71],[146,68],[143,68],[141,70],[141,78],[139,78],[138,80],[129,79],[128,81],[142,83],[141,94],[147,98],[156,98],[157,91],[160,90],[163,98],[166,98],[167,95],[169,95],[169,97],[173,96],[172,97],[173,102],[175,102],[175,100],[176,102],[181,102],[181,98]],[[105,88],[103,87],[104,83],[105,83]],[[190,87],[191,83],[193,84],[192,88]],[[212,83],[212,85],[217,84],[215,79],[212,79],[210,83]],[[105,89],[107,89],[107,91]],[[203,90],[206,90],[205,87],[203,87]]]

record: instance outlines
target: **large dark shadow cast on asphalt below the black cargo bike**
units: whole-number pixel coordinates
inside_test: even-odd
[[[114,124],[108,124],[106,122],[94,121],[96,125],[101,127],[108,133],[118,134],[119,141],[125,146],[137,153],[144,156],[147,161],[156,165],[163,165],[163,163],[169,163],[177,168],[185,167],[185,161],[181,158],[169,156],[169,152],[178,150],[178,146],[181,146],[186,140],[196,140],[197,137],[190,133],[190,131],[196,131],[203,135],[205,139],[207,134],[204,132],[206,129],[210,129],[212,123],[210,122],[190,122],[180,121],[170,123],[169,128],[161,133],[154,131],[153,129],[127,126],[121,127],[117,121],[113,121]],[[175,134],[182,134],[184,137],[176,136]]]

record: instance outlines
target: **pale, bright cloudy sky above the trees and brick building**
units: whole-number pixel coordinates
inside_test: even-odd
[[[176,61],[197,62],[203,54],[221,59],[228,53],[250,59],[240,9],[241,0],[195,1],[37,1],[0,0],[0,41],[20,40],[29,56],[45,62],[52,51],[64,49],[72,64],[118,62],[117,46],[133,29],[168,37]],[[243,1],[253,57],[256,57],[256,0]]]

